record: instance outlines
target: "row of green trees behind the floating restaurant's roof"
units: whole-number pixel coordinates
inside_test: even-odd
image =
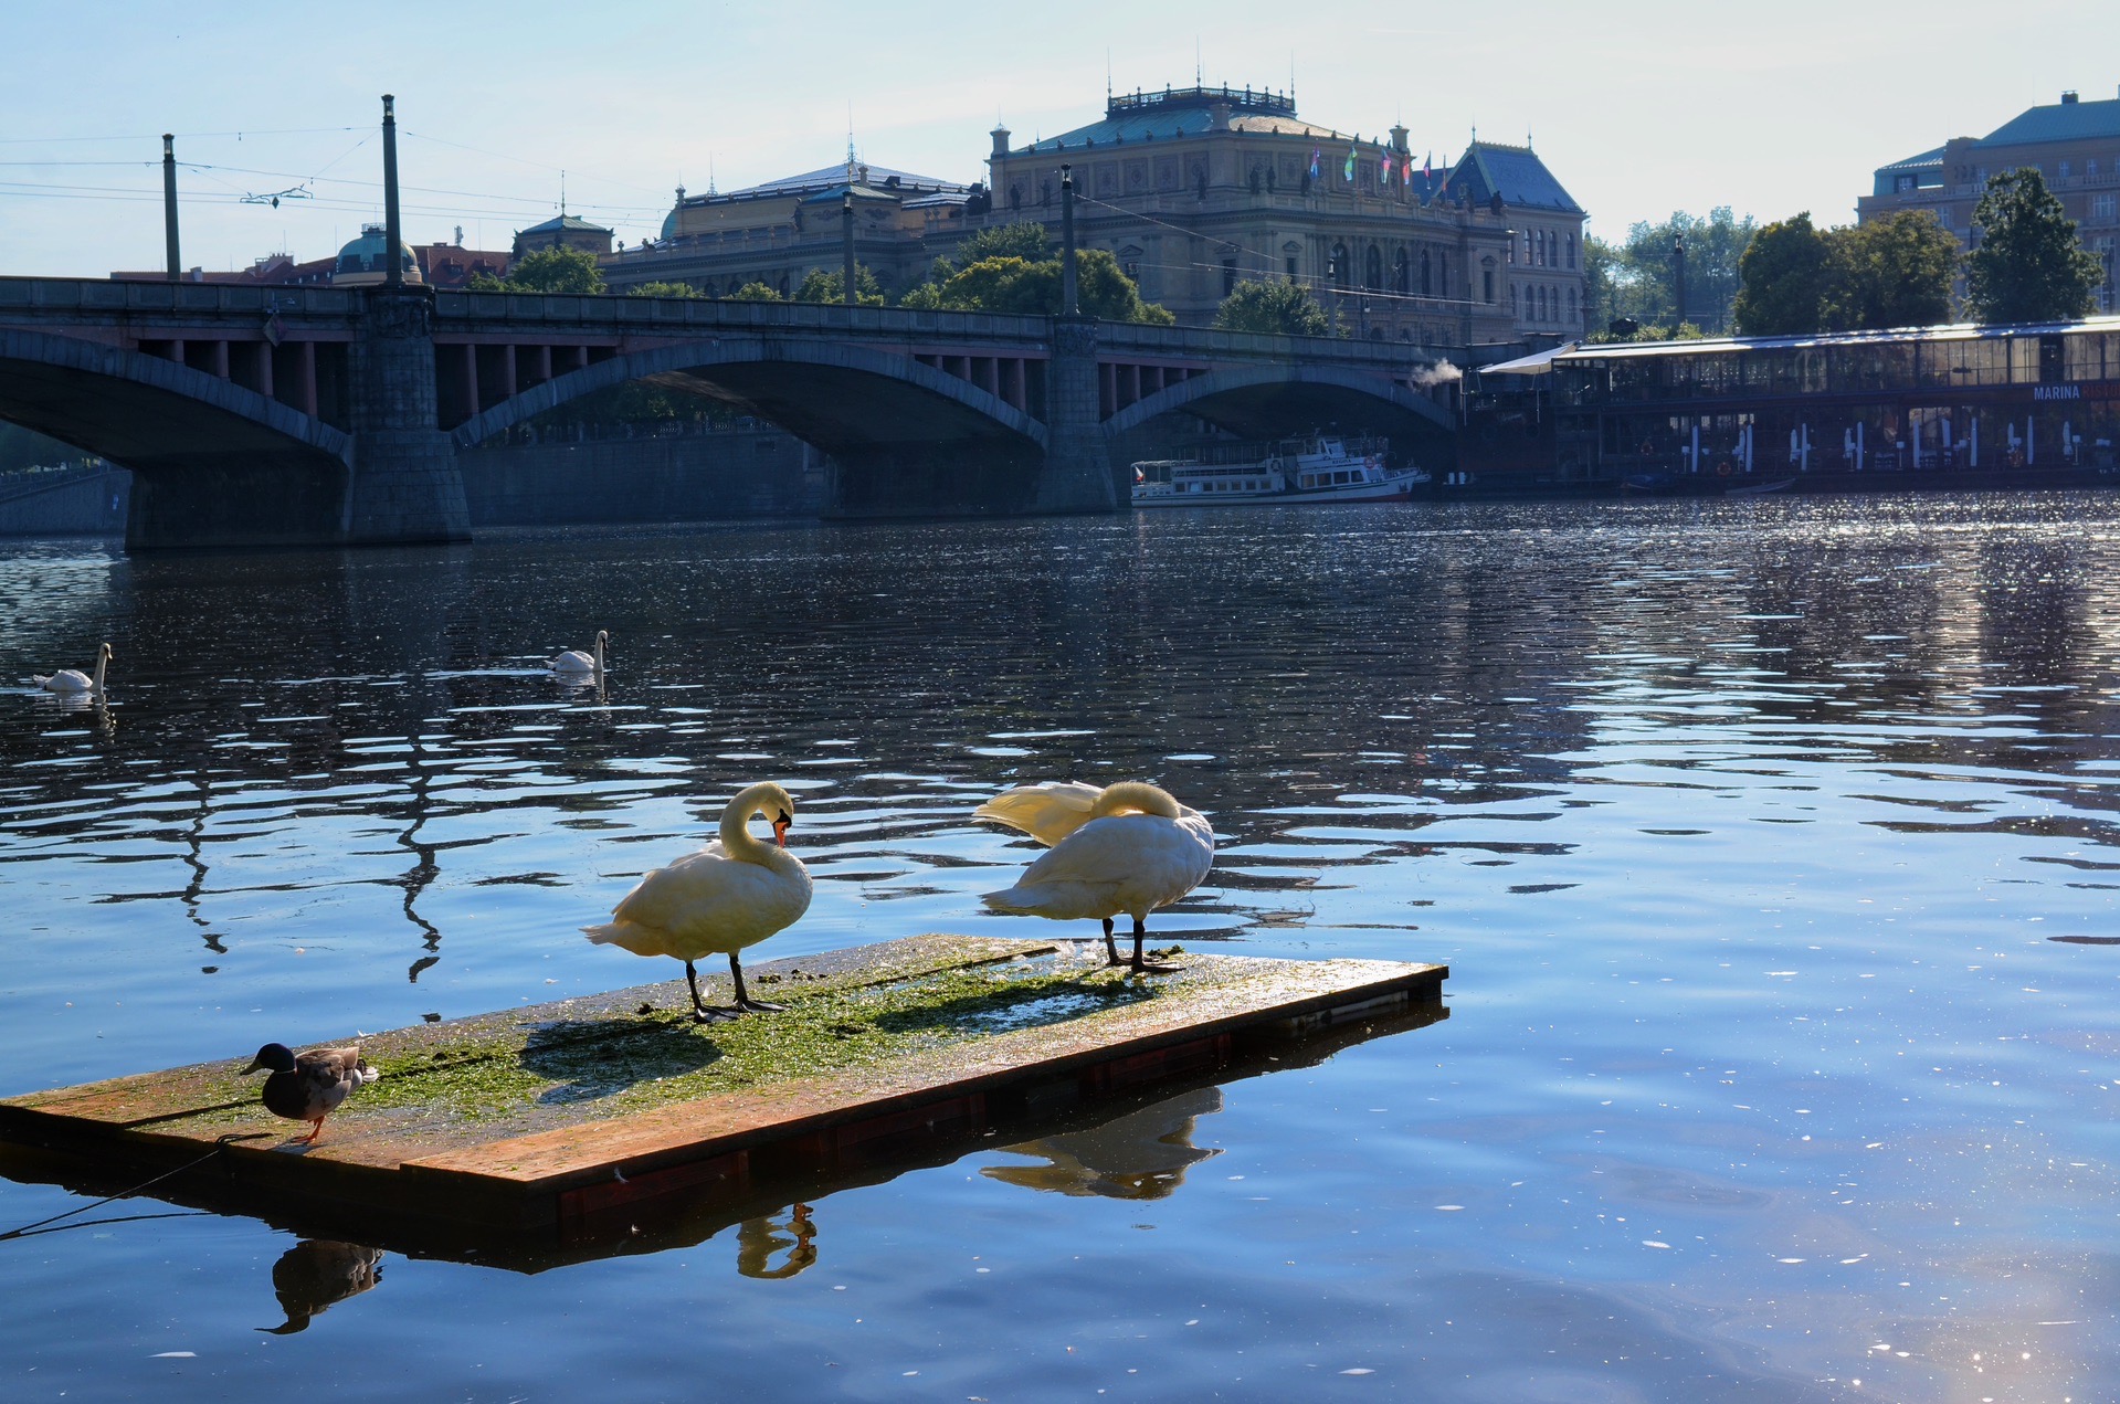
[[[1586,242],[1592,339],[1806,335],[1938,322],[2050,322],[2088,314],[2103,263],[2033,170],[1989,180],[1974,208],[1978,244],[1959,246],[1929,210],[1819,229],[1810,212],[1772,225],[1728,208],[1639,223],[1624,244]],[[1677,305],[1677,244],[1685,305]]]

